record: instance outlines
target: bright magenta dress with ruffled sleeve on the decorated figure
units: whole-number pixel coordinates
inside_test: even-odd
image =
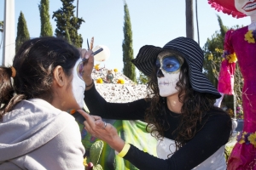
[[[248,42],[245,35],[248,27],[226,33],[224,54],[236,53],[241,74],[244,79],[242,88],[242,107],[244,111],[243,131],[237,136],[237,143],[228,160],[228,170],[256,170],[256,43]],[[227,55],[226,55],[227,56]],[[233,94],[234,63],[224,59],[221,65],[218,90]],[[230,80],[228,78],[230,77]]]

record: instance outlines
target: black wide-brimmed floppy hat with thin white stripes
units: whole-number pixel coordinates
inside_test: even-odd
[[[177,37],[166,43],[163,48],[152,45],[145,45],[137,54],[136,59],[131,62],[136,65],[139,71],[146,76],[150,76],[157,55],[162,51],[170,51],[183,57],[189,65],[189,80],[192,88],[200,93],[214,94],[216,98],[220,98],[217,89],[214,88],[212,82],[202,72],[204,55],[201,47],[193,39],[188,37]]]

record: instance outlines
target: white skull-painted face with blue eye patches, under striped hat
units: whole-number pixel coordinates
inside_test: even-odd
[[[183,65],[183,58],[176,54],[167,51],[158,54],[156,66],[160,96],[167,97],[177,94],[176,83],[179,80],[181,65]]]

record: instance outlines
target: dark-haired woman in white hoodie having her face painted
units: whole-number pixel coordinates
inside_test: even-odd
[[[40,37],[0,67],[0,169],[84,170],[79,126],[66,112],[84,104],[81,61],[68,42]]]

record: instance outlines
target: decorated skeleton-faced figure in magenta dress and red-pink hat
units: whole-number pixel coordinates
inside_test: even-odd
[[[236,57],[244,79],[242,107],[244,127],[237,136],[228,160],[228,170],[256,169],[256,1],[208,0],[218,11],[233,17],[251,17],[251,24],[227,31],[224,39],[224,60],[218,78],[218,91],[233,94]],[[230,77],[230,78],[229,78]]]

